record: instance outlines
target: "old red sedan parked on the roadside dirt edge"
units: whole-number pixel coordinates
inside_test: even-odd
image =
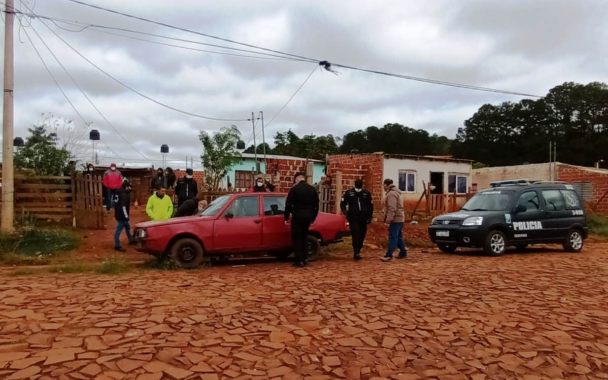
[[[182,268],[196,268],[204,257],[226,254],[292,252],[291,232],[285,225],[283,193],[238,193],[221,196],[199,215],[138,223],[137,250],[170,255]],[[320,212],[310,228],[308,258],[316,260],[321,246],[350,236],[344,215]]]

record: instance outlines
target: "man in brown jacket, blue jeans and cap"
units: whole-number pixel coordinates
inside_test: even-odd
[[[389,225],[389,250],[382,258],[382,261],[392,261],[395,248],[399,248],[397,258],[406,258],[406,243],[403,241],[402,235],[406,214],[403,212],[401,191],[393,184],[392,179],[384,180],[384,191],[386,192],[386,198],[384,199],[384,223]]]

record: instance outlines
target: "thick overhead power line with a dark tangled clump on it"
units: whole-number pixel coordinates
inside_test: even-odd
[[[214,36],[214,35],[209,35],[209,34],[206,34],[206,33],[197,32],[196,30],[185,29],[185,28],[174,26],[174,25],[171,25],[171,24],[166,24],[165,22],[153,21],[151,19],[147,19],[147,18],[143,18],[143,17],[140,17],[140,16],[135,16],[135,15],[130,15],[128,13],[119,12],[117,10],[112,10],[112,9],[100,7],[98,5],[88,4],[88,3],[80,1],[80,0],[66,0],[66,1],[74,2],[76,4],[85,5],[87,7],[91,7],[91,8],[98,9],[98,10],[103,10],[105,12],[114,13],[116,15],[122,15],[122,16],[129,17],[129,18],[139,19],[140,21],[150,22],[151,24],[165,26],[165,27],[169,27],[171,29],[182,30],[183,32],[193,33],[193,34],[197,34],[197,35],[201,35],[201,36],[206,36],[206,37],[209,37],[209,38],[214,38],[216,40],[221,40],[221,41],[226,41],[226,42],[229,42],[229,43],[240,44],[240,45],[243,45],[243,46],[252,47],[254,49],[266,50],[266,51],[274,52],[274,53],[277,53],[277,54],[283,54],[283,55],[288,55],[290,57],[300,58],[300,59],[306,60],[306,61],[316,62],[316,63],[319,63],[320,66],[324,67],[327,71],[333,71],[333,69],[331,68],[332,66],[335,66],[335,67],[344,67],[345,69],[352,69],[352,70],[357,70],[357,71],[370,72],[370,73],[378,74],[378,75],[387,75],[389,77],[402,78],[402,79],[406,79],[406,80],[421,81],[421,82],[424,82],[424,83],[432,83],[432,84],[435,84],[435,85],[451,86],[451,87],[455,87],[455,88],[471,89],[471,90],[475,90],[475,91],[494,92],[494,93],[506,94],[506,95],[519,95],[519,96],[538,97],[538,98],[542,97],[542,95],[527,94],[525,92],[507,91],[507,90],[501,90],[501,89],[495,89],[495,88],[489,88],[489,87],[483,87],[483,86],[466,85],[464,83],[457,83],[457,82],[451,82],[451,81],[442,81],[442,80],[434,80],[434,79],[423,78],[423,77],[414,77],[412,75],[393,74],[393,73],[390,73],[390,72],[376,71],[376,70],[371,70],[371,69],[364,69],[362,67],[348,66],[348,65],[345,65],[345,64],[332,63],[330,61],[320,61],[320,60],[316,60],[314,58],[303,57],[302,55],[295,55],[295,54],[291,54],[291,53],[282,52],[280,50],[268,49],[266,47],[256,46],[256,45],[247,44],[247,43],[241,43],[239,41],[229,40],[227,38],[222,38],[222,37],[218,37],[218,36]]]

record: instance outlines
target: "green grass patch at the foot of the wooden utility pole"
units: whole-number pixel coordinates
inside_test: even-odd
[[[25,227],[0,234],[0,261],[12,265],[49,264],[59,252],[78,247],[78,237],[63,229]]]

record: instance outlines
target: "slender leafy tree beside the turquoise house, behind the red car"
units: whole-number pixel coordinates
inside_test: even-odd
[[[205,184],[208,188],[218,188],[233,165],[241,161],[241,153],[237,150],[237,142],[241,133],[237,126],[224,126],[218,132],[209,134],[200,131],[198,138],[202,142],[202,165],[205,168]]]

